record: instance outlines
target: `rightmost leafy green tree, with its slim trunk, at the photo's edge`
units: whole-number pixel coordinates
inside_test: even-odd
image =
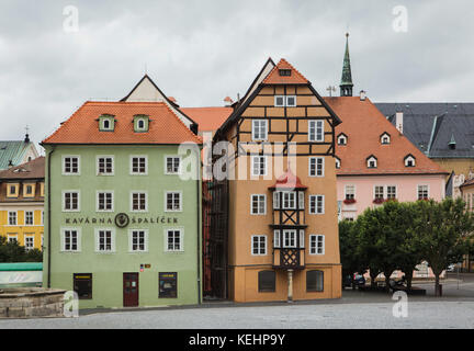
[[[440,274],[451,263],[469,252],[467,237],[472,233],[473,214],[465,211],[461,199],[448,197],[440,203],[418,201],[415,204],[414,245],[428,261],[435,274],[435,294],[441,295]]]

